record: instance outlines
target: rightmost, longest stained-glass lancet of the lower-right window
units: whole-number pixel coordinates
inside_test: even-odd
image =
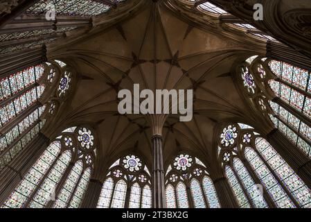
[[[311,191],[303,180],[263,138],[256,139],[256,148],[301,207],[311,207]]]

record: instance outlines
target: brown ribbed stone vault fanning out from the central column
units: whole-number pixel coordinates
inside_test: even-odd
[[[150,119],[118,114],[117,92],[133,89],[194,89],[194,116],[179,122],[163,116],[164,162],[186,150],[210,164],[216,123],[248,119],[254,114],[238,93],[231,67],[255,51],[234,33],[195,27],[166,8],[162,1],[145,3],[132,17],[108,28],[94,27],[70,44],[57,42],[49,59],[63,60],[77,71],[75,90],[46,130],[55,137],[68,126],[89,124],[96,129],[99,164],[105,171],[122,153],[133,151],[152,166]],[[107,161],[109,160],[109,161]]]

